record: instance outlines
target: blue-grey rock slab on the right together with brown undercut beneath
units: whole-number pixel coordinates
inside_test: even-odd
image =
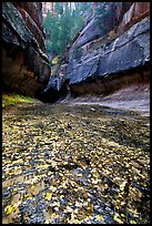
[[[141,76],[143,81],[148,80],[142,74],[149,70],[149,62],[150,20],[145,18],[113,40],[107,48],[93,51],[82,58],[81,63],[71,60],[68,64],[67,78],[75,94],[93,93],[93,91],[95,94],[97,92],[103,94],[132,83],[134,80],[141,81]],[[134,72],[135,69],[138,76]],[[149,73],[146,75],[149,76]],[[81,92],[77,91],[79,83]],[[92,84],[94,85],[92,86]],[[92,86],[92,91],[90,86]]]

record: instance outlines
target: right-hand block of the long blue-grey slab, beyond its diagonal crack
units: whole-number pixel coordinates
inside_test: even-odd
[[[145,24],[144,30],[142,29],[143,24]],[[141,28],[142,33],[141,30],[138,29],[139,27]],[[132,32],[132,30],[134,32]],[[122,43],[123,38],[126,38],[126,44]],[[141,42],[144,43],[144,48],[141,45]],[[99,75],[103,76],[104,74],[119,73],[120,71],[145,64],[150,58],[149,42],[149,19],[144,19],[140,24],[135,24],[129,30],[126,34],[123,34],[111,43],[109,50],[100,59]],[[114,43],[116,44],[114,45]],[[109,65],[107,66],[107,64]]]

